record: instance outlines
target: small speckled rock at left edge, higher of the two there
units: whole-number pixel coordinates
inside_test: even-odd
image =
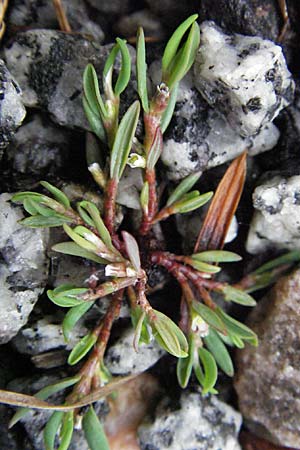
[[[0,59],[0,158],[25,115],[21,89]]]

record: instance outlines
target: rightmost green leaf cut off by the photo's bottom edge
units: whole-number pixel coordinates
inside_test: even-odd
[[[83,416],[82,428],[90,450],[109,450],[103,426],[92,406]]]

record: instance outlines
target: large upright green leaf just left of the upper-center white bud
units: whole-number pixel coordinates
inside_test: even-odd
[[[110,177],[119,181],[125,169],[140,114],[140,104],[135,101],[124,114],[114,140]]]

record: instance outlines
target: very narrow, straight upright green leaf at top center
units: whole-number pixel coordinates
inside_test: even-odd
[[[142,103],[143,110],[149,112],[148,92],[147,92],[147,64],[145,37],[143,28],[139,27],[136,43],[136,77],[138,84],[138,94]]]

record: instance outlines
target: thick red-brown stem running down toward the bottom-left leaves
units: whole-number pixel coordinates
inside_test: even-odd
[[[97,377],[97,371],[104,356],[111,327],[114,320],[119,316],[123,293],[124,290],[122,289],[114,294],[104,318],[101,319],[100,324],[94,329],[93,334],[98,336],[97,342],[88,360],[79,372],[79,375],[81,375],[80,381],[67,398],[67,401],[77,401],[84,395],[89,394],[95,386],[99,387],[100,380]]]

